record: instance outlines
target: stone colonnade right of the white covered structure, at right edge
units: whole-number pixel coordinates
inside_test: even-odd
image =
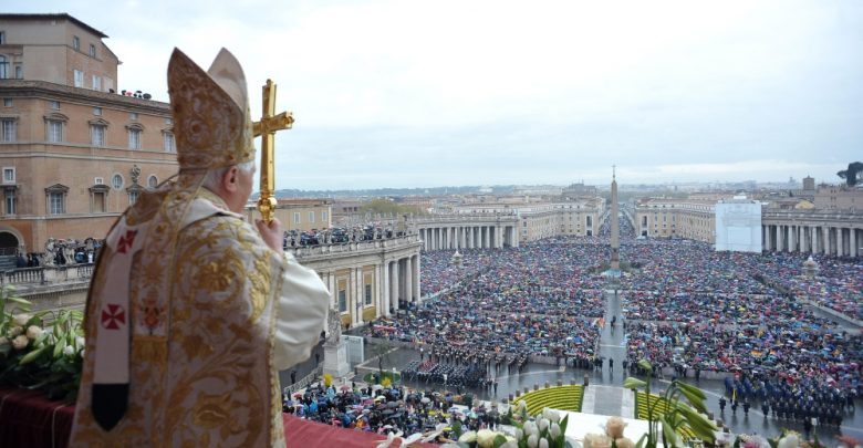
[[[815,225],[761,226],[765,250],[824,253],[836,257],[863,254],[863,229]]]

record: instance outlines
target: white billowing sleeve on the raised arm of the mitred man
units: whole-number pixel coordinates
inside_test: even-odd
[[[284,371],[305,361],[321,336],[330,292],[318,274],[285,253],[287,268],[279,291],[273,367]]]

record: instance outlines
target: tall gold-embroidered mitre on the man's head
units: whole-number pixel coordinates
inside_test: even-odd
[[[227,167],[254,159],[246,76],[221,49],[205,72],[174,49],[168,93],[180,169]]]

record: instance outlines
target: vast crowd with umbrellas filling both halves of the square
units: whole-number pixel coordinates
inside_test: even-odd
[[[628,221],[621,223],[621,259],[634,268],[616,286],[625,371],[637,373],[646,358],[659,375],[663,367],[696,379],[731,373],[735,409],[760,404],[776,418],[841,424],[863,388],[863,338],[799,299],[860,319],[860,259],[815,256],[820,271],[808,279],[808,254],[716,252],[698,241],[636,239]],[[423,252],[427,300],[375,321],[365,334],[422,347],[406,377],[458,392],[496,386],[495,378],[538,357],[602,366],[609,240],[606,220],[596,237],[462,250],[460,265],[454,251]]]

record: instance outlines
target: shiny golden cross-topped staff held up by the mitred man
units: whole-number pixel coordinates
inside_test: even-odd
[[[293,126],[293,115],[282,112],[275,115],[275,84],[267,80],[263,85],[263,115],[260,122],[252,124],[254,136],[261,136],[261,197],[258,199],[258,210],[264,222],[272,221],[272,213],[278,201],[275,192],[275,132],[290,129]]]

